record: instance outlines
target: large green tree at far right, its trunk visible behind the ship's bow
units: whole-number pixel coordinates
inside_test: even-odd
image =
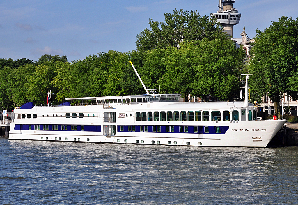
[[[297,99],[298,18],[282,16],[264,31],[256,30],[251,50],[249,78],[251,93],[261,99],[266,93],[274,101],[280,119],[280,99],[285,93]]]

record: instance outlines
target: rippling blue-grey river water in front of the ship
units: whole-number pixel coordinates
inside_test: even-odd
[[[298,148],[0,138],[0,204],[297,204]]]

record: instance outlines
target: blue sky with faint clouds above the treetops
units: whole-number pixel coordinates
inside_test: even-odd
[[[249,38],[285,15],[298,17],[297,0],[235,0],[242,14],[234,26]],[[219,0],[1,0],[0,58],[38,60],[44,54],[66,55],[68,61],[116,50],[136,50],[136,36],[149,18],[164,21],[173,10],[197,10],[201,16],[218,10]]]

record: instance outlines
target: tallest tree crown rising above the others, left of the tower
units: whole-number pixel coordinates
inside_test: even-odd
[[[136,48],[148,51],[167,46],[179,47],[184,41],[199,41],[203,38],[212,40],[224,35],[221,27],[208,16],[200,16],[197,11],[174,10],[165,13],[165,23],[149,19],[150,29],[146,28],[137,35]]]

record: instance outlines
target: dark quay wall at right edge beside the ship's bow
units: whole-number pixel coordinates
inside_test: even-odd
[[[287,126],[273,137],[267,147],[298,146],[298,122],[286,122],[286,124]]]

